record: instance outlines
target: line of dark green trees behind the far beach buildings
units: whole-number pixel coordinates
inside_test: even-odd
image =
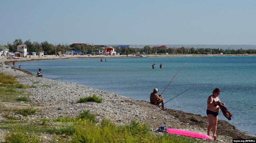
[[[53,55],[55,54],[55,51],[61,51],[61,52],[66,52],[66,51],[70,51],[70,50],[75,50],[75,51],[81,51],[82,53],[89,53],[89,52],[95,52],[96,50],[100,50],[103,51],[104,48],[102,48],[101,46],[91,46],[91,45],[76,45],[74,47],[69,47],[68,45],[54,45],[51,43],[48,43],[47,41],[44,42],[31,42],[30,39],[26,40],[26,41],[22,41],[21,39],[15,39],[13,41],[13,43],[8,43],[8,45],[5,45],[5,47],[9,47],[9,50],[12,52],[16,52],[17,51],[17,46],[20,44],[25,44],[27,46],[27,51],[28,52],[40,52],[41,50],[46,52],[49,55]],[[150,47],[149,45],[144,46],[143,48],[118,48],[118,46],[114,46],[113,48],[115,48],[116,52],[120,52],[120,53],[126,53],[126,54],[133,54],[136,52],[144,52],[144,53],[148,53],[148,54],[163,54],[163,53],[169,53],[169,54],[206,54],[206,53],[212,53],[212,54],[220,54],[223,53],[225,54],[225,52],[229,52],[232,54],[256,54],[256,50],[255,49],[248,49],[248,50],[243,50],[238,49],[238,50],[234,50],[234,49],[209,49],[209,48],[197,48],[195,49],[194,47],[192,48],[188,48],[185,49],[184,47],[181,48],[161,48],[161,49],[152,49],[152,47]]]

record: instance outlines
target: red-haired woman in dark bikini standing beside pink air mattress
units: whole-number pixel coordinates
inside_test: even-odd
[[[208,117],[209,125],[207,128],[207,135],[210,136],[210,132],[212,129],[214,140],[216,139],[216,130],[218,123],[218,115],[220,111],[220,107],[218,106],[218,102],[220,102],[220,89],[216,88],[212,92],[213,94],[208,97],[207,100],[207,110],[206,114]]]

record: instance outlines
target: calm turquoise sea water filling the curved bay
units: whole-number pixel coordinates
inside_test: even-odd
[[[103,62],[100,58],[44,60],[20,65],[34,74],[41,68],[46,78],[64,77],[58,80],[149,101],[153,89],[158,88],[159,94],[162,93],[187,62],[166,88],[163,97],[168,101],[196,86],[177,96],[177,103],[175,100],[166,103],[166,107],[206,116],[207,98],[212,90],[220,88],[219,98],[234,118],[228,121],[220,113],[219,119],[255,136],[256,56],[106,58],[107,62],[104,59]],[[155,69],[152,69],[154,63]]]

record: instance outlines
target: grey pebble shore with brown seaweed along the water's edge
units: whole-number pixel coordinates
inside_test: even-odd
[[[103,118],[110,119],[117,125],[124,125],[135,119],[141,122],[147,122],[150,128],[155,132],[161,125],[166,124],[168,128],[176,128],[187,131],[207,134],[207,117],[194,115],[172,109],[159,110],[157,106],[146,101],[135,101],[131,98],[120,96],[116,93],[92,89],[90,87],[79,85],[70,82],[60,82],[46,79],[44,77],[36,77],[34,74],[19,70],[0,68],[0,73],[5,73],[13,76],[18,76],[16,79],[21,84],[33,85],[35,88],[19,89],[31,96],[28,96],[35,104],[40,104],[33,108],[40,109],[41,113],[29,115],[29,121],[38,118],[52,119],[55,117],[70,116],[75,117],[84,109],[96,115],[100,121]],[[34,82],[34,83],[33,83]],[[36,82],[36,83],[35,83]],[[47,85],[47,86],[42,86]],[[81,97],[88,97],[95,94],[103,98],[102,103],[77,103]],[[0,105],[6,108],[27,108],[30,104],[24,102],[0,102]],[[3,117],[4,113],[0,113],[1,120],[7,120]],[[13,115],[22,117],[21,115]],[[25,118],[25,117],[22,117]],[[7,133],[5,130],[0,130],[0,140]],[[155,132],[159,134],[158,132]],[[51,136],[47,136],[50,138]],[[235,126],[227,121],[219,120],[217,128],[218,141],[215,142],[232,142],[232,139],[256,139],[256,137],[248,136],[236,129]],[[205,142],[212,142],[204,140]]]

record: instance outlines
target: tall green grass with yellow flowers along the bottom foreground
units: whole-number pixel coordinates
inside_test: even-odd
[[[88,110],[87,110],[88,111]],[[128,125],[116,126],[112,121],[103,119],[100,124],[95,124],[89,119],[58,117],[53,120],[37,119],[31,124],[9,124],[0,127],[9,130],[5,135],[6,143],[36,142],[38,135],[47,133],[54,135],[59,142],[81,143],[81,142],[113,142],[113,143],[201,143],[194,138],[177,136],[163,133],[154,135],[146,123],[131,121]],[[25,122],[24,122],[25,123]],[[24,132],[25,131],[25,132]],[[67,137],[71,138],[67,141]],[[15,140],[13,140],[15,138]],[[49,140],[56,142],[56,140]]]

